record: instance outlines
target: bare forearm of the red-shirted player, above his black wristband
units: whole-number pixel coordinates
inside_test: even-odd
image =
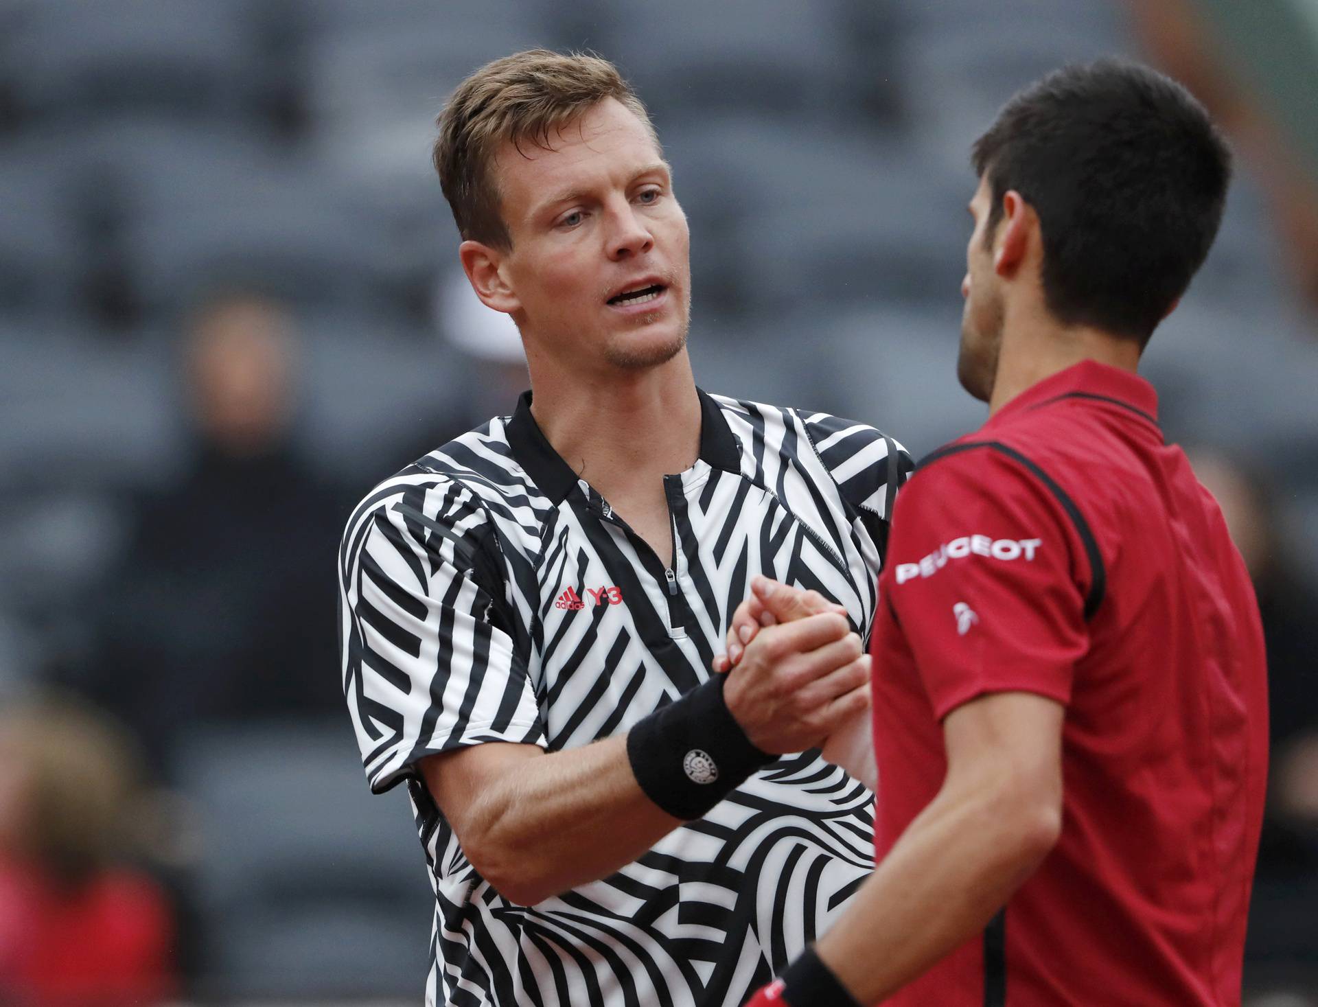
[[[1046,822],[941,793],[818,941],[818,957],[859,1003],[882,1000],[982,931],[1048,845]]]

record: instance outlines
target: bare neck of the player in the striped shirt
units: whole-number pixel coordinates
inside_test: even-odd
[[[687,351],[635,374],[538,380],[531,415],[554,449],[604,496],[683,472],[700,455],[700,397]]]

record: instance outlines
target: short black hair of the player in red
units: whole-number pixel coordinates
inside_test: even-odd
[[[1068,66],[1016,94],[975,141],[992,192],[1039,215],[1048,308],[1147,341],[1222,223],[1231,152],[1181,84],[1137,63]]]

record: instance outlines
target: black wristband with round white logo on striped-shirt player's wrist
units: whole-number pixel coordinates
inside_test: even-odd
[[[627,759],[637,783],[675,819],[702,817],[755,770],[778,758],[751,745],[728,710],[726,681],[726,675],[714,675],[627,733]]]

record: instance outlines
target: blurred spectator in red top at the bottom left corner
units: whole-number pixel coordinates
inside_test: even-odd
[[[37,703],[0,714],[0,1002],[148,1007],[173,993],[166,898],[124,866],[137,772],[104,720]]]

